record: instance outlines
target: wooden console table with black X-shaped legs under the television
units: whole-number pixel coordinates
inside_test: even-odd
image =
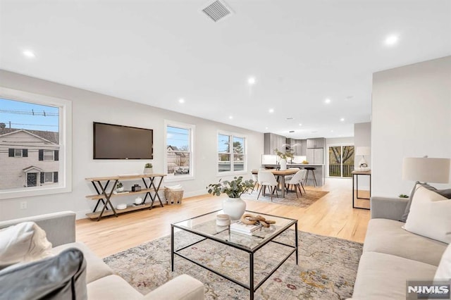
[[[139,209],[143,208],[149,208],[152,209],[152,206],[154,205],[154,201],[158,199],[160,201],[161,207],[163,207],[163,202],[161,202],[160,196],[158,194],[161,182],[163,182],[163,177],[166,176],[164,174],[137,174],[137,175],[118,175],[118,176],[111,176],[111,177],[92,177],[92,178],[86,178],[86,180],[89,180],[92,185],[94,186],[94,189],[96,190],[97,194],[95,195],[87,195],[86,198],[97,200],[97,204],[94,207],[94,210],[92,213],[87,213],[86,215],[91,218],[95,219],[97,218],[97,221],[100,220],[102,216],[105,215],[116,215],[118,216],[118,213],[126,213],[128,211],[137,211]],[[157,180],[159,178],[159,180]],[[142,180],[144,182],[144,189],[141,189],[138,192],[124,192],[124,193],[118,193],[114,194],[114,191],[116,190],[116,185],[119,180],[125,181],[125,180]],[[110,182],[113,182],[113,185],[111,189],[108,189],[108,186]],[[125,209],[117,210],[113,207],[113,204],[111,204],[111,197],[115,196],[128,196],[128,195],[134,195],[134,194],[144,194],[144,199],[142,200],[142,203],[138,206],[128,206]],[[150,197],[150,200],[152,203],[146,204],[147,196]],[[101,208],[101,211],[97,211],[97,208],[99,207],[99,204],[103,204],[103,207]],[[111,210],[109,210],[109,207]]]

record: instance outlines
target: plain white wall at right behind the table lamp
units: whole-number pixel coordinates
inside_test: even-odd
[[[374,73],[371,123],[373,196],[409,194],[404,157],[451,156],[451,56]]]

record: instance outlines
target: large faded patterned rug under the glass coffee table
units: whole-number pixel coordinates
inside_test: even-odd
[[[278,241],[293,244],[294,230],[287,230]],[[176,232],[180,248],[199,237]],[[345,239],[300,232],[299,265],[292,254],[276,273],[255,292],[255,299],[346,299],[352,296],[362,244]],[[288,247],[269,243],[255,254],[254,278],[260,281],[288,254]],[[242,282],[249,282],[248,254],[230,246],[203,241],[187,247],[184,254],[220,270]],[[175,256],[171,272],[171,238],[147,242],[104,258],[113,270],[142,294],[147,294],[180,274],[188,274],[205,285],[206,299],[249,299],[249,291],[209,270]]]

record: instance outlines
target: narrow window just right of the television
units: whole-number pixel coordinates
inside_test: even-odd
[[[192,179],[194,125],[166,122],[166,181]]]

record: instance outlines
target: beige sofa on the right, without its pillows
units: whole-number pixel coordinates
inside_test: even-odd
[[[406,299],[407,280],[433,280],[447,244],[402,229],[407,199],[371,197],[352,299]]]

